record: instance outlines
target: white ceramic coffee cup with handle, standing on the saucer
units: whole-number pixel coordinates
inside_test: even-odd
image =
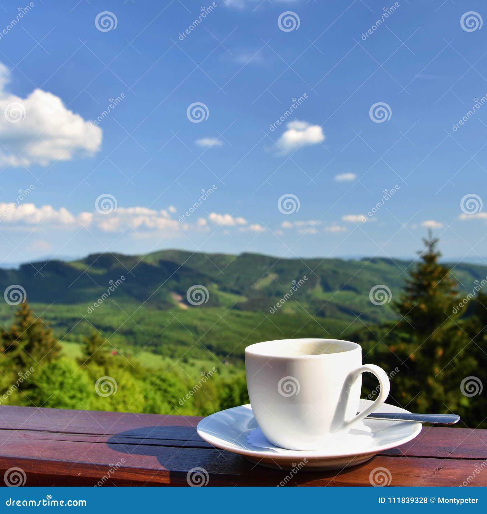
[[[265,437],[288,450],[317,450],[374,412],[389,394],[389,377],[362,364],[362,347],[337,339],[282,339],[245,348],[250,405]],[[357,414],[362,373],[381,386]]]

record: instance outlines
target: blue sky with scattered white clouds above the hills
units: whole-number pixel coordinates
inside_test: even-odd
[[[483,3],[31,5],[0,7],[4,262],[404,257],[427,227],[487,255]]]

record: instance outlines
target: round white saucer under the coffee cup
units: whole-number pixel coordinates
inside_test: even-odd
[[[360,400],[358,411],[364,410],[371,403],[371,400]],[[409,411],[384,403],[376,412]],[[250,404],[247,404],[211,414],[200,421],[196,430],[211,445],[240,453],[261,466],[319,471],[362,464],[381,451],[407,443],[421,429],[421,423],[364,419],[349,433],[334,436],[329,448],[284,450],[267,441],[257,425]]]

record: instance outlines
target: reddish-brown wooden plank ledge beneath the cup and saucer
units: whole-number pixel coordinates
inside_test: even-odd
[[[275,486],[289,474],[213,448],[196,434],[200,419],[2,406],[0,472],[21,468],[27,486],[188,485],[194,468],[206,471],[208,486]],[[486,458],[487,430],[425,426],[365,464],[299,471],[286,484],[370,486],[372,470],[386,468],[392,486],[485,486]]]

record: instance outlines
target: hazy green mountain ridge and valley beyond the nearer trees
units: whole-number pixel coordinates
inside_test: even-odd
[[[278,259],[180,250],[103,253],[0,269],[0,290],[22,286],[35,314],[64,341],[79,342],[95,327],[115,348],[241,362],[252,342],[344,338],[364,324],[392,319],[390,304],[375,305],[369,292],[385,285],[392,301],[397,299],[415,265],[382,258]],[[487,266],[452,267],[465,291],[487,276]],[[195,288],[190,301],[188,290],[196,285],[208,292]],[[15,309],[2,303],[3,326]]]

